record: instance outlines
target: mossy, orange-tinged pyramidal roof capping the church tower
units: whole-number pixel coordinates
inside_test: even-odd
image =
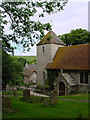
[[[49,31],[37,45],[44,44],[66,45],[53,31]]]

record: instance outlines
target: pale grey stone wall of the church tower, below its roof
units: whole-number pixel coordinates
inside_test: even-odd
[[[44,53],[43,53],[44,46]],[[44,86],[45,80],[43,79],[43,72],[45,67],[50,63],[56,54],[56,51],[62,45],[57,44],[44,44],[37,46],[37,84]],[[45,78],[46,79],[46,78]]]

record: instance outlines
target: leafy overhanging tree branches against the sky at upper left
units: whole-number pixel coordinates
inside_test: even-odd
[[[30,50],[29,45],[35,44],[35,39],[41,39],[44,36],[44,30],[51,30],[50,23],[41,23],[32,20],[32,17],[39,11],[39,17],[46,14],[54,14],[64,9],[68,0],[27,0],[18,2],[2,2],[0,5],[2,34],[2,47],[4,50],[12,52],[16,47],[11,46],[11,42],[22,44],[24,50]],[[7,20],[9,17],[9,20]],[[10,24],[12,33],[4,33],[4,25]]]

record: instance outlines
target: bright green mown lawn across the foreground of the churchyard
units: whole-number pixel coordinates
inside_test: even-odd
[[[44,107],[42,103],[25,103],[12,97],[16,113],[3,113],[3,118],[88,118],[88,103],[80,101],[60,101],[57,106]]]

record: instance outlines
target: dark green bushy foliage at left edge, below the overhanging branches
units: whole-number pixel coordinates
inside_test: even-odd
[[[20,85],[23,79],[23,66],[16,58],[2,51],[2,87],[7,83]]]

